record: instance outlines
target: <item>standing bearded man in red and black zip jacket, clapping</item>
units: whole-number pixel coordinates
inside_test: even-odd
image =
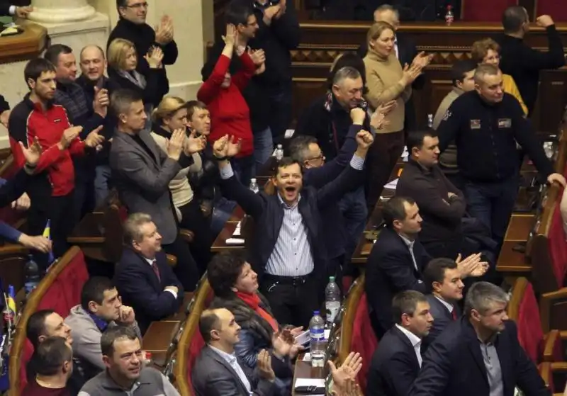
[[[30,234],[43,233],[47,220],[51,222],[51,238],[55,257],[67,250],[67,237],[76,221],[72,215],[74,166],[72,156],[84,154],[85,148],[94,149],[104,138],[101,128],[79,138],[82,127],[69,125],[67,111],[52,102],[55,95],[55,67],[45,59],[30,60],[24,77],[30,88],[23,101],[13,108],[9,118],[10,146],[18,166],[26,162],[18,142],[29,147],[38,140],[42,153],[33,179],[28,183],[31,198],[28,213]],[[38,258],[45,266],[45,260]]]

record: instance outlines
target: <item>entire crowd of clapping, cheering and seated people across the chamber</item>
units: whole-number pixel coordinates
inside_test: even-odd
[[[10,110],[1,101],[21,168],[0,186],[1,202],[28,211],[28,234],[2,224],[3,237],[34,249],[46,271],[47,253],[62,256],[111,189],[128,211],[112,280],[91,276],[66,318],[42,310],[28,319],[34,354],[23,395],[178,395],[145,365],[141,339],[205,273],[215,299],[199,323],[206,346],[191,374],[196,395],[290,395],[303,349],[296,336],[329,278],[342,288],[359,273],[350,258],[378,207],[383,225],[364,271],[379,346],[371,361],[352,353],[339,368],[330,362],[327,391],[359,395],[364,364],[366,395],[511,396],[515,387],[550,395],[507,318],[495,261],[524,154],[547,182],[566,185],[529,120],[539,71],[565,64],[551,17],[537,18],[549,37],[549,51],[539,52],[523,42],[526,10],[508,8],[504,33],[455,62],[453,89],[431,128],[418,130],[412,91],[425,84],[432,55],[398,33],[396,9],[380,6],[358,52],[337,57],[327,91],[286,140],[290,51],[301,33],[293,1],[232,0],[191,101],[167,95],[178,55],[173,18],[154,29],[147,1],[116,5],[106,50],[87,45],[76,56],[51,45],[26,64],[21,103]],[[265,191],[252,191],[279,144],[288,155]],[[247,251],[213,255],[237,205],[254,222]],[[51,239],[41,236],[47,223]]]

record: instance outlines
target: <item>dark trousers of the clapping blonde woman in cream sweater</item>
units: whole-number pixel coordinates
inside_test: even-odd
[[[210,217],[203,215],[199,201],[193,197],[191,202],[179,207],[181,211],[181,227],[191,230],[195,237],[189,245],[191,254],[197,262],[199,273],[205,273],[210,261],[210,247],[213,245],[213,232],[210,230]]]

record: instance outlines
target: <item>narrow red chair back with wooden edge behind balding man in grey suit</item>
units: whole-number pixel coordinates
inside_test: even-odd
[[[213,290],[210,288],[206,274],[197,288],[190,312],[185,322],[183,332],[179,336],[176,361],[174,363],[174,383],[179,393],[184,396],[194,396],[191,383],[191,371],[196,358],[205,346],[205,341],[198,330],[201,314],[213,300]]]

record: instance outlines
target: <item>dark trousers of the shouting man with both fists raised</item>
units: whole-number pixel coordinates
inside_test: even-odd
[[[260,287],[282,326],[293,324],[308,329],[313,311],[320,310],[320,284],[313,273],[299,277],[266,273]]]

